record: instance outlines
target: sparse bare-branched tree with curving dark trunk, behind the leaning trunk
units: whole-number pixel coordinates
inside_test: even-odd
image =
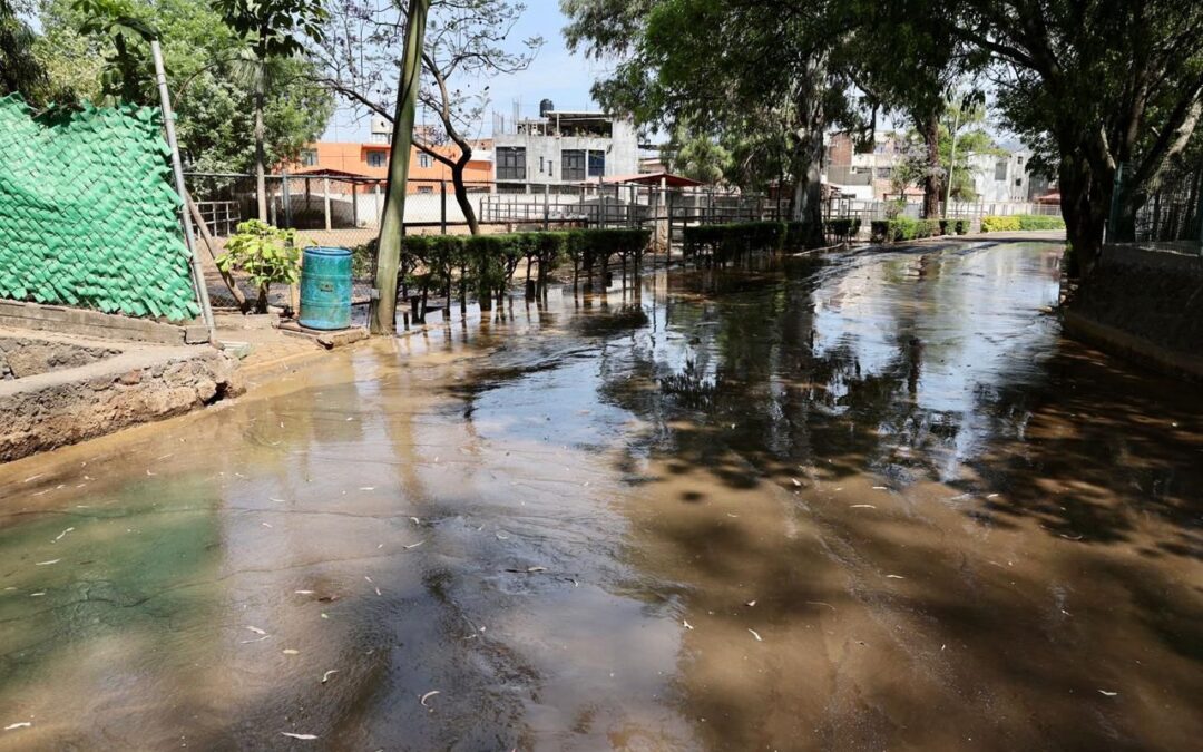
[[[372,0],[336,0],[326,37],[314,46],[321,83],[357,108],[389,119],[397,101],[396,71],[405,28],[404,4],[380,11]],[[422,48],[425,85],[419,102],[438,126],[414,134],[414,146],[451,172],[456,202],[469,229],[479,231],[464,170],[473,156],[490,103],[490,78],[525,70],[541,37],[511,40],[526,5],[510,0],[433,0]],[[445,148],[445,147],[451,148]]]

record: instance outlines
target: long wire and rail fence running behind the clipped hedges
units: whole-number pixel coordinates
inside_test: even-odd
[[[292,229],[306,245],[348,248],[352,251],[352,304],[372,300],[375,243],[384,213],[386,182],[336,171],[266,176],[262,206],[256,179],[250,174],[189,173],[189,194],[201,242],[208,250],[206,279],[215,308],[245,309],[257,290],[244,276],[223,278],[213,259],[225,250],[239,223],[263,219]],[[680,245],[682,230],[693,225],[784,220],[790,202],[780,195],[723,190],[712,186],[669,186],[639,183],[469,183],[457,195],[446,180],[410,179],[407,183],[404,232],[468,233],[470,219],[481,232],[552,230],[563,227],[645,227],[652,230],[653,253]],[[828,196],[826,219],[854,218],[867,229],[899,206],[887,201],[859,201]],[[919,205],[902,212],[918,215]],[[1059,207],[1031,203],[954,203],[956,217],[1047,213]],[[668,256],[660,256],[668,257]],[[237,290],[231,289],[237,288]],[[273,289],[273,306],[295,304],[295,290]]]

